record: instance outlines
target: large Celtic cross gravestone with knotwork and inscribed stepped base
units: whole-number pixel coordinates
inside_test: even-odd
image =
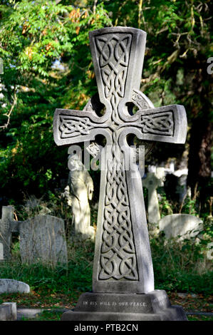
[[[87,146],[96,135],[104,135],[105,168],[100,176],[93,292],[82,294],[76,309],[64,313],[62,320],[187,319],[181,306],[171,306],[165,291],[154,288],[142,180],[127,142],[134,134],[145,148],[152,141],[185,143],[185,108],[154,108],[139,91],[144,31],[114,27],[89,36],[99,98],[91,98],[83,111],[56,109],[53,133],[57,145]],[[133,105],[138,108],[134,115]]]

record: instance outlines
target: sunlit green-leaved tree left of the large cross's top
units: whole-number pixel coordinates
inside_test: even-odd
[[[54,110],[86,101],[94,77],[88,31],[110,19],[100,5],[43,0],[5,1],[0,12],[1,192],[41,196],[67,173],[66,150],[59,153],[53,143]]]

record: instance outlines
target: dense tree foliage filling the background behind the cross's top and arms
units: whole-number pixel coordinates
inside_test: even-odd
[[[142,91],[156,106],[184,104],[189,126],[194,118],[211,120],[211,76],[206,71],[212,50],[209,3],[147,0],[142,7],[140,3],[1,1],[2,195],[41,196],[66,177],[66,149],[56,149],[53,142],[53,112],[82,109],[97,91],[90,30],[133,26],[147,31]],[[162,153],[170,154],[167,147],[158,149],[156,160]]]

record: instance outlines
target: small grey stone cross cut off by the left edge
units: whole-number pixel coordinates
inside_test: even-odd
[[[0,243],[3,244],[3,259],[11,257],[11,221],[14,220],[14,207],[2,206],[2,215],[0,220]]]

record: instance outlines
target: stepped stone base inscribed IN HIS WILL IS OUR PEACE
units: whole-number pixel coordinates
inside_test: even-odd
[[[181,306],[172,306],[163,290],[149,294],[81,294],[73,311],[61,316],[63,321],[160,321],[187,320]]]

